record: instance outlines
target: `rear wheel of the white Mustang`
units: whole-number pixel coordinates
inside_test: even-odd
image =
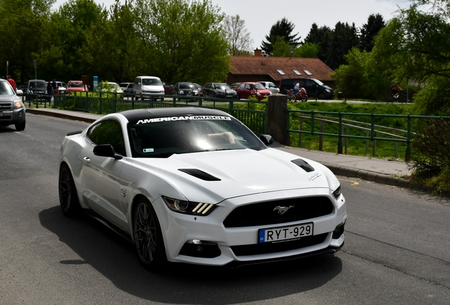
[[[76,194],[74,178],[65,163],[59,167],[58,193],[59,205],[61,205],[64,216],[72,218],[79,215],[81,207]]]

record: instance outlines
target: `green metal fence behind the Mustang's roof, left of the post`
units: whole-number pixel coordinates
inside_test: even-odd
[[[117,92],[73,92],[70,95],[55,95],[52,107],[95,114],[159,107],[212,108],[231,114],[258,135],[267,133],[267,102],[252,100],[178,95],[150,95],[143,99],[142,95]]]

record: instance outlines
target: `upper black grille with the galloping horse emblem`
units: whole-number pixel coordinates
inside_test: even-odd
[[[252,203],[231,211],[224,220],[224,226],[253,227],[296,222],[331,214],[333,209],[333,203],[325,196]],[[282,213],[282,210],[286,211]]]

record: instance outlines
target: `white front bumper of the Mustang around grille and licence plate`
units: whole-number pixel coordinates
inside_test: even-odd
[[[333,212],[296,222],[278,223],[277,225],[258,225],[253,227],[225,227],[224,220],[241,205],[277,201],[283,198],[308,196],[327,196],[333,203]],[[318,253],[333,253],[344,244],[343,227],[340,234],[333,232],[347,219],[345,198],[340,196],[335,201],[329,189],[306,189],[296,191],[277,191],[231,198],[217,204],[217,208],[208,216],[195,216],[174,213],[168,210],[162,198],[153,203],[163,232],[168,261],[194,263],[201,265],[245,265],[280,261]],[[258,230],[274,227],[286,227],[313,222],[313,241],[309,237],[299,241],[288,241],[269,245],[270,250],[260,251],[266,244],[258,244]],[[195,243],[204,248],[205,255],[195,254]],[[297,243],[299,246],[292,246]],[[291,244],[291,246],[289,246]],[[202,246],[203,245],[203,246]],[[198,247],[197,246],[197,247]],[[203,250],[201,248],[197,248]],[[248,249],[250,249],[248,251]],[[212,257],[211,257],[212,256]]]

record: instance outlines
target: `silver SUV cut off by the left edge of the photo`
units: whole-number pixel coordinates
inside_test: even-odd
[[[0,79],[0,126],[15,125],[25,129],[25,105],[7,80]]]

